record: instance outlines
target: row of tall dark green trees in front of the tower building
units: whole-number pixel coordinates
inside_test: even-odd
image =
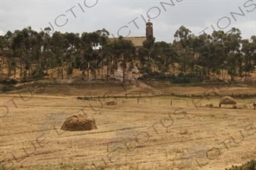
[[[101,73],[100,79],[108,81],[109,74],[121,68],[125,82],[125,73],[136,66],[141,79],[189,83],[210,79],[211,74],[225,79],[225,73],[246,79],[256,64],[256,36],[242,39],[236,28],[194,36],[181,26],[172,43],[155,42],[153,36],[148,36],[140,48],[122,36],[109,41],[106,29],[81,35],[57,31],[50,35],[50,31],[46,27],[36,32],[28,26],[0,36],[0,80],[15,78],[17,73],[24,82],[43,79],[53,69],[63,79],[76,69],[87,79],[97,79]]]

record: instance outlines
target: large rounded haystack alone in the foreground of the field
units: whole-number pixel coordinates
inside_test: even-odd
[[[97,129],[97,127],[93,117],[78,113],[69,116],[63,123],[61,129],[64,131],[90,131]]]

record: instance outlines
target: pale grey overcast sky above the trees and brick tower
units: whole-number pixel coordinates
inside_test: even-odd
[[[27,26],[40,32],[51,23],[54,31],[63,33],[105,28],[115,37],[129,32],[129,36],[145,36],[149,19],[156,42],[172,42],[182,25],[195,36],[203,30],[211,34],[213,28],[227,32],[235,27],[243,39],[250,39],[256,33],[256,0],[2,0],[0,34]]]

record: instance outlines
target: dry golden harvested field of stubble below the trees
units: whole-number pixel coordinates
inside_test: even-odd
[[[233,109],[220,108],[221,96],[213,94],[152,94],[213,89],[248,94],[255,86],[47,85],[1,94],[0,169],[224,170],[255,159],[256,97],[236,97]],[[77,100],[103,94],[100,100]],[[106,106],[111,100],[118,105]],[[96,119],[96,130],[60,130],[68,116],[83,111]]]

